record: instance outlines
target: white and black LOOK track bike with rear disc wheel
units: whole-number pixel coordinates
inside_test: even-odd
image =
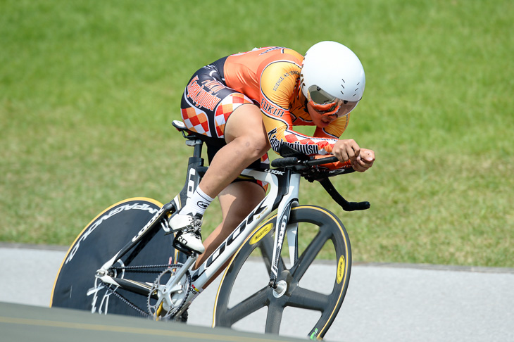
[[[173,125],[187,146],[194,148],[182,191],[164,205],[151,198],[129,198],[89,222],[65,255],[51,306],[184,322],[194,298],[227,265],[215,297],[213,327],[234,327],[263,309],[267,310],[264,331],[279,334],[284,309],[298,308],[318,312],[305,334],[321,339],[346,295],[351,246],[334,213],[299,203],[299,184],[302,177],[320,182],[346,211],[368,209],[369,202],[346,201],[330,182],[330,177],[353,169],[327,170],[318,165],[337,159],[311,159],[284,148],[284,158],[272,160],[274,168],[244,170],[242,177],[268,182],[267,194],[215,252],[193,269],[198,255],[173,248],[175,234],[168,220],[208,169],[201,158],[206,138],[190,132],[180,121]],[[332,275],[326,279],[309,272],[320,253],[331,261]],[[247,282],[241,282],[246,277],[242,270],[244,265],[257,267],[258,260],[265,272],[261,279],[251,281],[256,289],[249,290]],[[306,279],[315,280],[314,286],[304,286]]]

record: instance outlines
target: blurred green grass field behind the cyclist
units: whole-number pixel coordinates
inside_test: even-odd
[[[372,208],[341,213],[317,184],[303,202],[338,213],[354,260],[514,267],[512,18],[510,0],[1,0],[0,241],[68,245],[123,198],[169,201],[192,72],[330,39],[366,71],[344,137],[377,153],[334,183]]]

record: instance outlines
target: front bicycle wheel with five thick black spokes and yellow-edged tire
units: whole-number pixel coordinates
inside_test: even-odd
[[[321,313],[317,322],[308,326],[307,329],[311,330],[305,329],[305,332],[311,339],[323,338],[332,322],[334,322],[334,318],[341,308],[346,290],[348,289],[351,272],[351,246],[348,233],[337,216],[330,213],[329,210],[314,205],[301,205],[293,208],[289,223],[300,224],[298,229],[299,235],[307,234],[312,229],[311,226],[316,227],[315,229],[318,232],[316,232],[315,237],[289,269],[285,267],[284,258],[281,257],[279,264],[280,276],[277,281],[286,281],[287,291],[280,298],[275,298],[273,290],[268,286],[273,248],[272,235],[275,232],[275,222],[276,215],[270,217],[270,219],[255,229],[243,243],[242,247],[239,248],[239,251],[235,253],[234,258],[232,258],[218,287],[218,294],[215,298],[213,327],[233,327],[241,319],[255,315],[261,308],[268,307],[265,315],[265,333],[279,334],[279,332],[282,333],[281,324],[283,322],[282,318],[284,318],[284,309],[294,307]],[[332,241],[332,246],[336,253],[335,260],[337,260],[334,262],[336,267],[334,269],[333,286],[329,286],[332,288],[329,289],[330,293],[319,293],[301,287],[300,282],[303,282],[303,276],[308,272],[308,268],[312,265],[315,256],[318,255],[322,246],[329,240]],[[282,255],[284,255],[284,249],[286,249],[285,244]],[[242,296],[237,294],[237,292],[244,291],[249,287],[247,286],[248,284],[244,284],[244,279],[239,279],[244,278],[242,267],[248,262],[252,252],[256,250],[261,251],[261,262],[264,262],[266,271],[263,274],[266,274],[266,276],[263,276],[263,279],[259,279],[259,284],[256,285],[257,291],[248,290],[251,294]],[[255,262],[256,258],[251,258],[251,260]],[[334,267],[332,266],[332,268]],[[252,265],[251,270],[247,272],[251,272],[252,282],[255,282],[255,265]],[[313,277],[310,278],[312,280]],[[242,285],[236,284],[238,279],[239,282],[242,282]],[[320,284],[320,281],[324,281],[324,284],[332,284],[330,279],[318,279],[318,284]],[[238,303],[232,305],[232,303],[229,303],[231,297],[244,299],[239,301],[235,298]],[[256,319],[251,318],[250,324],[253,327],[256,326],[255,321]],[[249,321],[247,320],[247,322]],[[301,329],[308,323],[292,321],[289,324],[296,324]],[[262,332],[261,329],[262,324],[258,331]],[[297,335],[298,333],[299,331],[296,327],[285,331],[285,334]]]

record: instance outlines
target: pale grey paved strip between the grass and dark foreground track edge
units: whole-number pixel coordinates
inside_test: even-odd
[[[20,247],[0,246],[0,302],[47,306],[65,251]],[[316,267],[329,272],[326,265]],[[247,277],[251,283],[251,272]],[[189,324],[211,326],[218,283],[194,301]],[[305,319],[290,322],[284,336],[304,338],[299,331]],[[239,329],[259,328],[247,322]],[[514,270],[353,265],[349,291],[325,340],[514,341]]]

